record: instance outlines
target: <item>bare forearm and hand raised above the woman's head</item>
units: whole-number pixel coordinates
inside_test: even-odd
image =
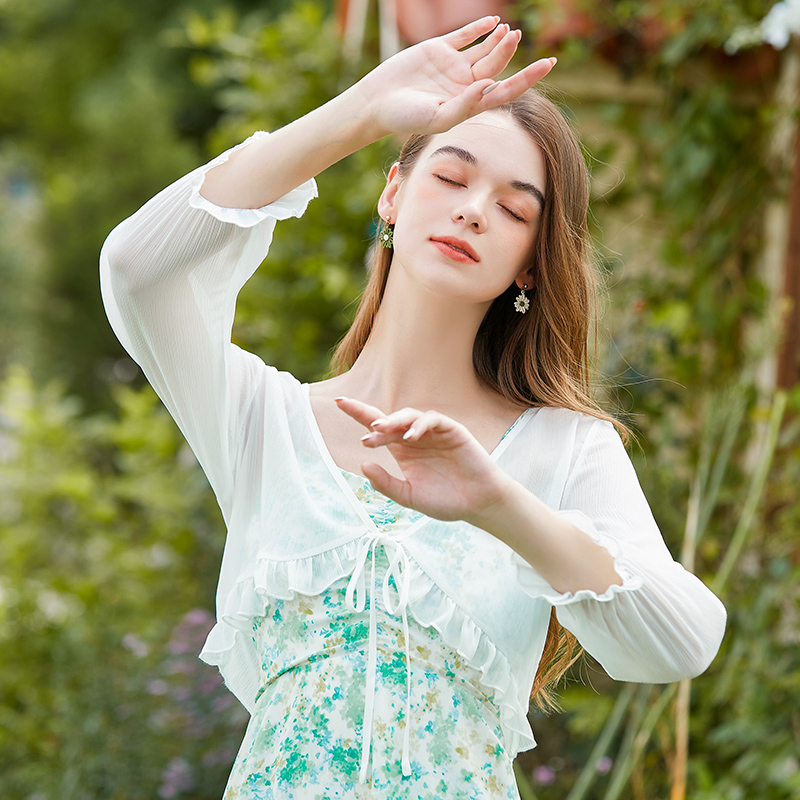
[[[208,175],[202,195],[220,206],[259,208],[387,134],[438,133],[517,97],[555,60],[541,59],[495,85],[521,36],[498,21],[484,17],[398,53],[329,103],[236,153]]]

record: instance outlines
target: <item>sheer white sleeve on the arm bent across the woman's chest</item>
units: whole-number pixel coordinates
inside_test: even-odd
[[[614,557],[621,586],[560,594],[514,554],[522,589],[544,596],[559,622],[617,680],[669,683],[703,672],[719,649],[725,608],[673,560],[613,426],[591,423],[560,514]]]

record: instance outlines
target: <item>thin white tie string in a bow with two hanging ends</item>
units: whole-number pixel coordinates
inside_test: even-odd
[[[383,545],[389,556],[389,566],[383,578],[383,604],[386,612],[392,616],[398,613],[403,619],[403,637],[406,646],[406,727],[403,733],[403,775],[411,775],[411,759],[409,757],[409,727],[411,726],[411,660],[408,642],[408,594],[411,573],[405,548],[394,538],[385,533],[372,533],[364,536],[358,544],[356,566],[347,584],[346,603],[353,611],[363,611],[366,597],[369,594],[369,650],[367,657],[367,686],[364,700],[364,730],[361,740],[361,772],[359,783],[366,783],[369,766],[370,747],[372,745],[372,725],[375,715],[375,682],[378,667],[378,608],[375,603],[375,549]],[[365,591],[365,571],[367,556],[372,556],[369,592]],[[397,603],[392,603],[390,579],[394,579],[397,592]]]

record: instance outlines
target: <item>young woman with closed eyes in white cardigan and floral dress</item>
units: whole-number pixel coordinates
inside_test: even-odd
[[[201,654],[252,715],[228,800],[516,798],[559,623],[626,681],[719,646],[590,398],[587,173],[530,89],[553,60],[493,80],[519,38],[488,17],[400,53],[104,246],[109,319],[228,527]],[[383,246],[338,374],[301,384],[231,344],[236,295],[312,177],[388,133],[413,135]]]

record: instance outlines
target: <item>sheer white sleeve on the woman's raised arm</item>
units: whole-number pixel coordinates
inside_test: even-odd
[[[153,197],[100,255],[111,326],[191,445],[226,522],[239,426],[265,369],[231,343],[236,296],[266,256],[276,220],[302,215],[316,196],[308,181],[260,209],[206,200],[206,172],[250,141]]]

